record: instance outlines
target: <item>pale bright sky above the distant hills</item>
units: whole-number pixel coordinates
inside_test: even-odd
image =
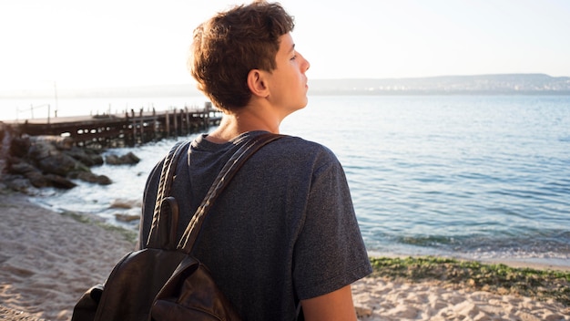
[[[192,83],[193,29],[233,0],[0,0],[0,91]],[[570,76],[567,0],[282,0],[309,78]]]

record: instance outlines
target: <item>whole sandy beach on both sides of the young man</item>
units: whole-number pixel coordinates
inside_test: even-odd
[[[124,234],[0,192],[0,320],[69,320],[76,300],[134,248]],[[555,301],[435,282],[368,277],[353,285],[360,320],[570,320]]]

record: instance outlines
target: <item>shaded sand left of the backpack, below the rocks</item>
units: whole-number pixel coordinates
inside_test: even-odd
[[[0,195],[0,314],[10,308],[69,320],[77,299],[133,249],[120,233],[48,211],[17,193]]]

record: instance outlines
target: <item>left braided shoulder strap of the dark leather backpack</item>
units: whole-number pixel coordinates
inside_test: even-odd
[[[180,156],[188,151],[190,141],[179,141],[168,152],[160,171],[157,200],[148,233],[147,247],[173,250],[177,245],[178,205],[170,197],[176,166]]]

